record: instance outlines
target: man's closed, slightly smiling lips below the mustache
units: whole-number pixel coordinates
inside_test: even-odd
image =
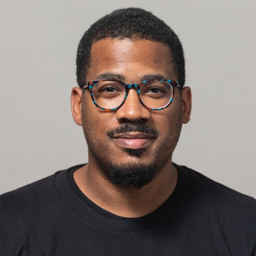
[[[113,137],[121,147],[138,150],[149,146],[156,137],[146,133],[122,133]]]

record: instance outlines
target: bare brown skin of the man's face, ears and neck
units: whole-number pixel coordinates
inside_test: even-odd
[[[148,75],[161,75],[177,80],[173,70],[169,48],[150,40],[102,39],[93,44],[91,67],[87,81],[111,78],[102,76],[112,73],[122,76],[125,83],[139,83]],[[157,78],[157,77],[156,77]],[[119,79],[120,80],[120,79]],[[179,137],[181,125],[187,123],[191,112],[191,90],[176,88],[173,103],[161,111],[149,111],[139,102],[137,92],[131,89],[125,103],[113,112],[102,111],[93,104],[90,90],[72,89],[72,115],[83,131],[97,145],[98,153],[117,164],[150,162],[160,153],[167,159],[153,181],[144,187],[123,187],[112,184],[97,166],[89,148],[88,164],[76,170],[74,179],[80,190],[101,208],[122,217],[141,217],[156,210],[172,195],[178,180],[178,172],[172,165],[175,145],[163,147],[170,138]],[[180,120],[180,116],[182,120]],[[143,122],[159,131],[158,137],[143,138],[143,134],[130,133],[122,138],[110,139],[106,132],[124,122]],[[177,128],[178,127],[178,128]],[[172,131],[176,131],[174,134]],[[178,131],[178,132],[177,132]],[[129,137],[130,136],[130,137]],[[136,138],[137,136],[137,138]],[[123,148],[146,148],[140,158],[127,154]]]

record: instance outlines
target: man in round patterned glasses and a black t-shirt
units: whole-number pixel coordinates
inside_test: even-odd
[[[173,30],[139,8],[104,16],[77,82],[89,162],[1,196],[1,255],[256,255],[256,201],[172,163],[191,112]]]

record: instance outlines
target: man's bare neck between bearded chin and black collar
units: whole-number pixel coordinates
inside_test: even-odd
[[[82,193],[101,208],[118,216],[138,218],[156,210],[172,195],[178,172],[170,157],[150,184],[140,189],[122,187],[106,180],[89,159],[87,165],[76,170],[74,179]]]

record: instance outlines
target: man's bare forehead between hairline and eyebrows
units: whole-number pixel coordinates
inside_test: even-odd
[[[135,80],[145,74],[176,79],[169,47],[151,40],[102,39],[95,42],[87,80],[95,80],[103,73],[121,75],[129,82],[138,82]]]

